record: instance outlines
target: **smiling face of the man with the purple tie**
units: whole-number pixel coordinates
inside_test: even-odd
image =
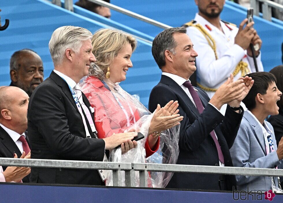
[[[189,79],[196,71],[196,57],[198,53],[193,49],[193,43],[185,33],[174,33],[174,40],[177,44],[175,55],[172,55],[174,69],[178,70],[180,77]]]

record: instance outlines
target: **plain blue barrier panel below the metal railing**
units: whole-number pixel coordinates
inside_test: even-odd
[[[234,198],[234,199],[233,199]],[[242,200],[240,199],[242,198]],[[172,203],[172,202],[269,202],[264,194],[250,194],[232,192],[203,192],[166,189],[132,189],[114,187],[76,187],[76,186],[46,186],[0,184],[0,203],[64,203],[64,202],[111,202],[111,203]],[[239,199],[239,200],[237,200]],[[283,195],[276,194],[272,203],[283,202]]]

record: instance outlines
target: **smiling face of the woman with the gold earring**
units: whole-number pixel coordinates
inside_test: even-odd
[[[109,65],[110,80],[113,83],[126,80],[126,74],[129,68],[133,67],[132,61],[132,47],[131,44],[126,44],[118,55],[113,59]]]

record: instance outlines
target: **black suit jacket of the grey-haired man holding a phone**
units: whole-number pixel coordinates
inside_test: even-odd
[[[82,96],[89,108],[89,101]],[[68,84],[55,72],[31,95],[27,117],[32,159],[103,160],[104,140],[94,138],[88,122],[92,138],[86,138],[81,114]],[[104,184],[97,170],[63,168],[31,168],[30,182]]]

